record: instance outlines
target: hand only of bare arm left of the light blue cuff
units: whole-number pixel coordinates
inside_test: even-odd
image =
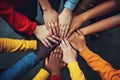
[[[49,30],[50,34],[57,35],[57,33],[59,32],[58,13],[51,8],[43,12],[43,18],[45,26]]]

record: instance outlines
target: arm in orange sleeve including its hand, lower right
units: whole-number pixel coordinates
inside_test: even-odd
[[[75,32],[69,41],[80,52],[79,54],[86,60],[87,64],[100,74],[103,80],[120,79],[120,70],[115,70],[107,61],[90,51],[86,45],[85,37],[80,31]]]

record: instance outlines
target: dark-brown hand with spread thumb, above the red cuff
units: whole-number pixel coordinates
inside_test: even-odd
[[[45,59],[45,67],[53,75],[60,75],[61,69],[65,66],[62,61],[62,51],[57,48],[51,52],[49,59]]]

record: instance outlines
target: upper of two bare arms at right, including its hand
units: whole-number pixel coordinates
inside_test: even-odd
[[[113,0],[109,0],[99,4],[98,6],[81,13],[80,15],[74,16],[71,26],[69,35],[76,29],[78,29],[85,21],[93,19],[95,17],[110,13],[116,9],[116,4]],[[68,35],[68,36],[69,36]]]

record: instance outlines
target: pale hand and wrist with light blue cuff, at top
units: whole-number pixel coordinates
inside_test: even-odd
[[[71,20],[72,20],[72,11],[77,5],[79,0],[67,0],[63,11],[59,15],[59,27],[60,27],[60,36],[65,38],[67,36]]]

